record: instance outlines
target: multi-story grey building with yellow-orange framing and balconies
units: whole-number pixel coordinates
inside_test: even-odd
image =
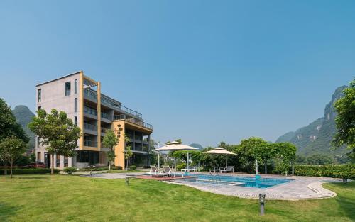
[[[141,113],[102,94],[100,82],[80,71],[38,84],[36,91],[37,109],[44,109],[48,113],[51,109],[65,111],[82,130],[82,137],[77,141],[77,156],[71,158],[55,155],[55,167],[107,166],[107,152],[111,148],[104,148],[102,144],[107,129],[113,130],[119,138],[119,144],[114,148],[116,166],[125,168],[126,145],[133,152],[129,161],[131,165],[149,165],[148,152],[151,149],[153,126],[143,121]],[[128,144],[125,143],[125,135],[131,139]],[[40,138],[36,138],[36,160],[50,166],[50,157],[41,145]]]

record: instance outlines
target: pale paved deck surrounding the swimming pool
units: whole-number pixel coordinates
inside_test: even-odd
[[[199,174],[192,173],[192,174]],[[206,174],[206,172],[204,172]],[[191,175],[191,174],[190,174]],[[222,175],[222,174],[221,174]],[[224,175],[224,174],[223,174]],[[231,174],[227,174],[231,175]],[[238,177],[255,177],[253,174],[233,174]],[[88,177],[85,175],[84,177]],[[204,192],[212,192],[214,194],[222,194],[226,196],[238,196],[240,198],[258,199],[258,194],[266,194],[266,199],[278,199],[278,200],[302,200],[302,199],[324,199],[337,196],[336,193],[324,189],[322,187],[323,183],[326,182],[342,182],[342,179],[334,179],[327,177],[283,177],[273,174],[263,175],[261,178],[273,178],[273,179],[292,179],[290,182],[285,182],[283,184],[278,184],[273,187],[268,188],[255,188],[255,187],[241,187],[241,186],[229,186],[224,184],[209,184],[209,183],[199,183],[184,181],[183,178],[187,179],[189,177],[149,177],[143,173],[103,173],[94,174],[95,178],[103,179],[124,179],[126,177],[136,177],[140,179],[155,179],[168,184],[180,184],[187,187],[193,187],[195,189],[200,189]],[[193,177],[193,175],[192,175]],[[176,180],[176,181],[174,181]]]

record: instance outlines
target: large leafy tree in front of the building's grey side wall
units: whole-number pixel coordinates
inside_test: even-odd
[[[51,174],[54,173],[54,154],[75,157],[77,140],[82,133],[67,117],[67,113],[52,109],[48,114],[40,109],[37,116],[33,117],[33,121],[28,123],[28,128],[41,138],[41,143],[46,146],[45,150],[51,157]]]

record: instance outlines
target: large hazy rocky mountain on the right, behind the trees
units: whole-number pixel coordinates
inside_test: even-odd
[[[290,142],[297,146],[297,155],[312,155],[322,153],[339,155],[346,153],[345,148],[331,150],[332,139],[336,132],[334,102],[343,96],[346,86],[338,87],[332,95],[331,101],[325,106],[324,117],[310,123],[308,126],[281,135],[276,143]]]

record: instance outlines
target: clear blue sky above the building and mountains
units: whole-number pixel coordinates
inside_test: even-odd
[[[0,97],[77,70],[165,142],[274,141],[355,77],[355,1],[1,1]]]

